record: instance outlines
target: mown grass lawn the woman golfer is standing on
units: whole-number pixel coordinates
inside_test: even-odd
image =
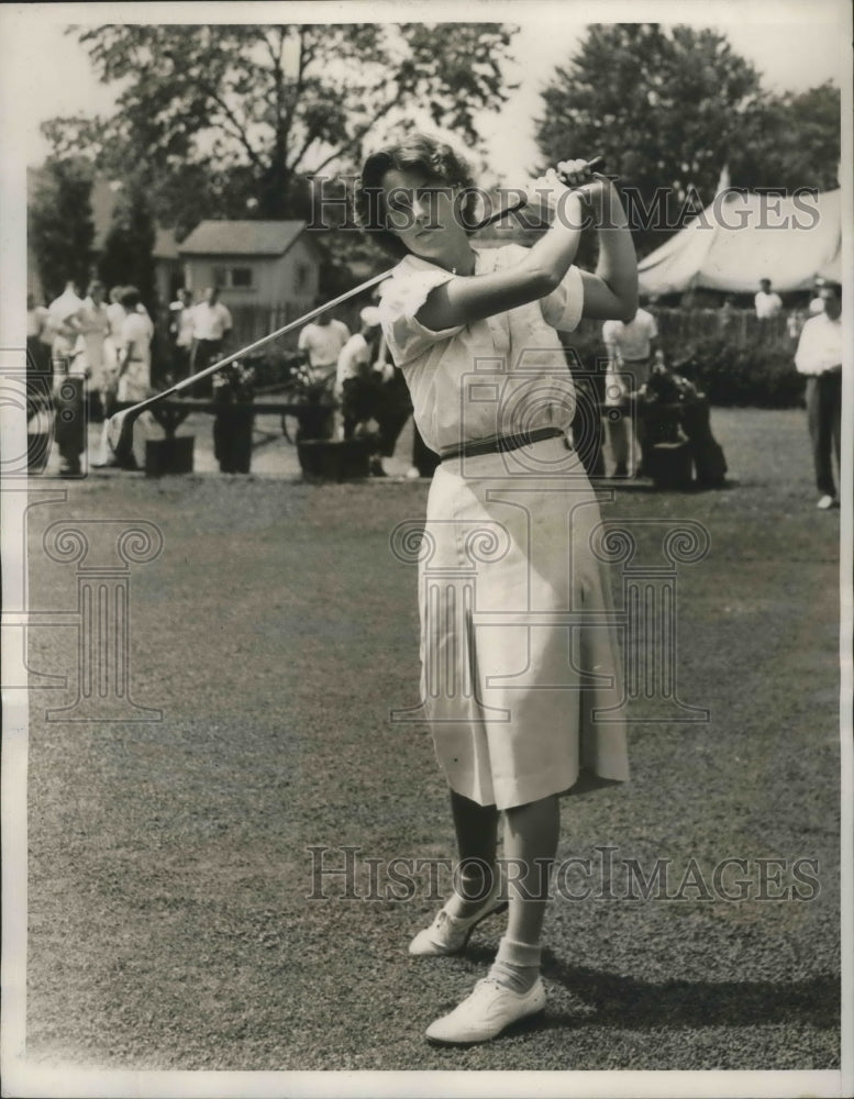
[[[465,1050],[423,1031],[484,975],[501,921],[459,957],[411,961],[429,882],[399,901],[373,864],[371,899],[365,862],[453,854],[429,730],[389,721],[418,691],[415,575],[389,534],[423,514],[426,485],[131,475],[33,508],[34,610],[77,606],[76,566],[41,551],[51,523],[163,532],[130,581],[132,695],[163,720],[47,722],[74,691],[31,696],[27,1058],[838,1068],[839,512],[814,508],[802,412],[714,410],[712,425],[728,488],[628,486],[603,506],[710,535],[678,571],[678,692],[710,720],[633,724],[632,781],[564,803],[559,859],[614,848],[610,892],[552,907],[544,1019]],[[31,631],[31,667],[74,682],[76,662],[73,630]],[[342,845],[358,848],[357,898],[329,878],[307,899],[309,848],[341,866]],[[712,887],[728,858],[743,899]],[[667,896],[631,899],[631,859],[667,861]],[[698,873],[708,897],[673,896]]]

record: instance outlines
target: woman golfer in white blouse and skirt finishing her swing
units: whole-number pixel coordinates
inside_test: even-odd
[[[619,195],[585,162],[559,164],[528,193],[552,213],[536,244],[473,248],[469,169],[422,134],[370,155],[356,192],[362,226],[400,258],[380,321],[442,458],[419,566],[421,698],[451,787],[459,877],[410,954],[462,951],[509,899],[489,975],[432,1023],[435,1042],[483,1042],[544,1008],[559,797],[628,778],[624,729],[607,712],[622,691],[591,537],[600,515],[566,443],[575,401],[555,329],[634,315],[634,247]],[[598,226],[592,274],[573,266],[585,219]]]

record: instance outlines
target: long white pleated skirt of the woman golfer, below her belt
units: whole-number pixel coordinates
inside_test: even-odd
[[[629,777],[600,524],[561,437],[445,460],[433,477],[419,563],[422,708],[451,789],[479,804]]]

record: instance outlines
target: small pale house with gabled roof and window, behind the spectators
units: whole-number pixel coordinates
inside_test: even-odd
[[[185,286],[215,286],[230,309],[314,304],[322,252],[304,221],[202,221],[178,245]]]

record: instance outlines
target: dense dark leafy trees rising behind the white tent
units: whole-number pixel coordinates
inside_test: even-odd
[[[594,26],[543,93],[537,144],[550,164],[605,155],[623,180],[643,253],[712,200],[724,166],[733,187],[818,186],[829,170],[835,176],[833,98],[825,87],[775,99],[714,31]]]

